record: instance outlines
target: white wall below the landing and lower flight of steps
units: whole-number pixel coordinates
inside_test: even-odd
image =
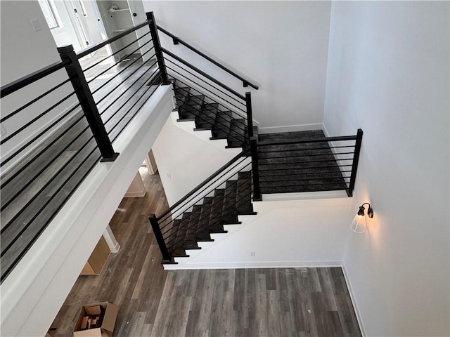
[[[256,216],[239,216],[240,225],[224,225],[226,234],[199,242],[178,265],[165,269],[320,267],[342,265],[353,218],[349,197],[258,201]]]

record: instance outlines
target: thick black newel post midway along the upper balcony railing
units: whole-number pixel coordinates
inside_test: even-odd
[[[97,105],[94,97],[92,97],[91,89],[84,77],[84,72],[81,65],[79,65],[73,46],[70,44],[69,46],[58,47],[58,52],[61,60],[70,60],[70,63],[65,66],[65,70],[68,72],[72,86],[77,94],[79,105],[82,107],[84,116],[89,123],[89,127],[100,149],[101,156],[103,157],[101,161],[115,161],[119,154],[114,152],[113,144],[111,144],[105,125],[98,113]]]

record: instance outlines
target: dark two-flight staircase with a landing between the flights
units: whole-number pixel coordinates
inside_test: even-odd
[[[219,177],[231,170],[229,164],[236,161],[232,159],[210,177],[223,186],[208,187],[209,194],[197,197],[184,213],[176,211],[178,206],[174,205],[162,216],[150,218],[164,264],[190,257],[189,251],[201,249],[200,242],[214,241],[212,234],[226,234],[224,225],[240,224],[238,216],[255,215],[252,201],[261,200],[261,194],[347,190],[354,159],[348,147],[356,144],[345,142],[356,140],[356,136],[326,138],[321,130],[258,135],[252,127],[256,137],[250,138],[245,116],[180,79],[172,78],[171,82],[176,122],[194,121],[194,131],[211,131],[210,140],[224,139],[226,148],[243,148],[238,157],[252,157],[253,167],[250,171],[248,164],[231,179]],[[205,188],[200,184],[184,199]]]

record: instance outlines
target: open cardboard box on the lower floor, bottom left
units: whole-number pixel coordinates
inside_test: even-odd
[[[82,325],[83,317],[86,316],[86,308],[89,311],[89,308],[100,305],[105,314],[103,315],[103,322],[101,323],[100,328],[89,329],[89,330],[81,330],[78,331],[80,326]],[[75,325],[75,329],[73,332],[74,337],[111,337],[113,336],[115,320],[117,319],[117,312],[119,311],[119,307],[117,305],[110,302],[101,302],[101,303],[92,303],[86,304],[82,306],[82,311],[79,313],[77,325]]]

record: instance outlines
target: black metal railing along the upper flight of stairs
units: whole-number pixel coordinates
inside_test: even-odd
[[[149,14],[148,17],[150,17]],[[251,86],[252,88],[258,89],[258,86],[253,84],[248,79],[245,79],[239,74],[236,74],[236,72],[229,70],[229,68],[221,65],[221,63],[210,58],[210,56],[199,51],[190,44],[187,44],[171,32],[168,32],[167,29],[160,26],[157,27],[160,32],[167,35],[167,37],[170,37],[174,44],[180,44],[181,46],[186,47],[185,51],[190,51],[193,55],[199,55],[203,60],[207,60],[207,62],[210,62],[212,65],[217,67],[219,72],[229,74],[233,79],[242,81],[244,87]],[[215,77],[212,77],[206,71],[200,69],[200,66],[195,66],[191,62],[181,58],[180,55],[177,55],[174,51],[169,51],[167,48],[163,47],[161,48],[161,51],[163,55],[162,64],[166,67],[168,75],[174,78],[174,86],[176,89],[183,90],[193,88],[196,93],[195,95],[205,95],[205,100],[207,100],[206,103],[208,105],[216,105],[217,109],[214,107],[214,111],[231,112],[235,124],[234,127],[238,133],[243,134],[245,137],[245,143],[243,145],[248,145],[250,143],[250,137],[253,136],[254,132],[252,121],[252,98],[250,91],[238,93],[235,89],[217,80]],[[211,119],[215,118],[213,117],[214,113],[208,108],[204,111],[194,105],[191,107],[194,110],[197,110],[195,113],[195,121],[198,122],[198,124],[211,124]],[[206,112],[206,114],[204,112]],[[217,119],[216,124],[223,125],[220,119]],[[214,124],[212,124],[211,128],[214,133]]]

